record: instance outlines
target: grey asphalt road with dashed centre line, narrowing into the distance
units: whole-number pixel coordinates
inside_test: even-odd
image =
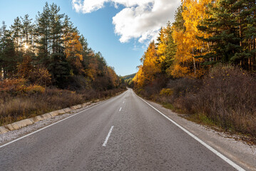
[[[235,170],[133,90],[0,147],[0,170]]]

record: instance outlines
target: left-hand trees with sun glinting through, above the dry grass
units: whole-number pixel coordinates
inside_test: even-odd
[[[30,84],[58,88],[117,88],[120,78],[100,52],[88,48],[86,38],[56,4],[36,15],[17,17],[0,29],[0,78],[24,78]]]

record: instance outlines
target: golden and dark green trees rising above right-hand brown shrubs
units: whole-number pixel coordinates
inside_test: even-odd
[[[184,0],[151,42],[134,81],[147,85],[158,75],[201,78],[216,63],[256,71],[256,4],[254,0]]]

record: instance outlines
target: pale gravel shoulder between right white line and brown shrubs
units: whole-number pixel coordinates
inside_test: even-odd
[[[237,140],[235,135],[230,136],[227,133],[217,132],[205,125],[193,123],[158,103],[152,101],[148,101],[148,103],[233,162],[247,168],[247,170],[256,170],[256,145],[248,145],[242,140]]]

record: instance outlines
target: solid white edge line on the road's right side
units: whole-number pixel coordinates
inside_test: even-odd
[[[137,95],[138,96],[138,95]],[[138,96],[140,98],[140,96]],[[148,105],[150,105],[148,102],[146,102],[143,98],[140,98],[141,100],[143,100],[145,103],[147,103]],[[222,158],[222,160],[224,160],[225,162],[227,162],[228,164],[230,164],[232,167],[234,167],[236,170],[239,171],[245,171],[242,167],[240,167],[239,165],[235,164],[235,162],[232,162],[230,159],[228,159],[227,157],[225,157],[225,155],[222,155],[220,152],[218,152],[217,150],[215,150],[213,147],[210,147],[210,145],[206,144],[205,142],[203,142],[203,140],[200,140],[198,137],[196,137],[195,135],[193,135],[193,133],[190,133],[188,130],[186,130],[185,128],[183,128],[182,126],[180,126],[178,123],[175,123],[174,120],[168,118],[168,116],[166,116],[165,114],[161,113],[158,109],[154,108],[153,105],[150,105],[151,108],[155,109],[156,111],[158,111],[158,113],[160,113],[161,115],[163,115],[166,119],[170,120],[170,122],[172,122],[173,124],[175,124],[176,126],[178,126],[178,128],[180,128],[181,130],[183,130],[185,133],[187,133],[188,135],[190,135],[192,138],[194,138],[195,140],[197,140],[198,142],[200,142],[203,146],[207,147],[209,150],[211,150],[213,153],[215,153],[215,155],[219,156],[220,158]]]

